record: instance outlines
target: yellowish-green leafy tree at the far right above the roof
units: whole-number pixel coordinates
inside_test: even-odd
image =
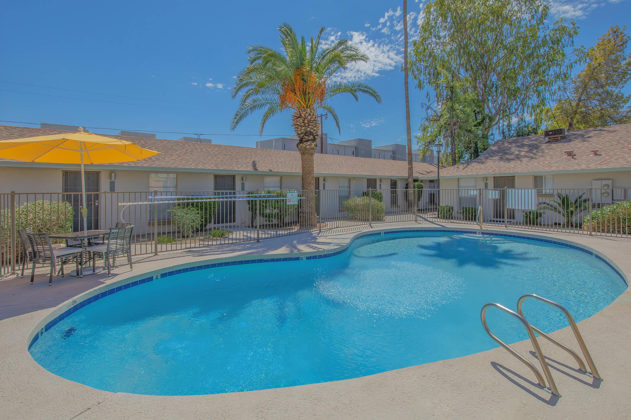
[[[631,80],[631,54],[625,54],[628,40],[625,26],[611,26],[581,55],[579,61],[586,66],[559,88],[557,104],[546,108],[546,128],[572,131],[631,122],[631,95],[622,93]]]

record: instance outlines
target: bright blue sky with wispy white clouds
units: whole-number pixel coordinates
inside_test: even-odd
[[[369,82],[383,103],[368,97],[359,103],[338,98],[334,106],[341,117],[341,133],[331,119],[324,122],[324,131],[334,139],[364,137],[375,145],[405,142],[401,2],[3,4],[0,120],[116,129],[92,130],[103,133],[120,129],[212,133],[204,137],[219,144],[254,147],[261,139],[256,135],[257,115],[230,132],[237,107],[236,100],[230,99],[230,87],[233,76],[247,64],[247,47],[279,48],[276,28],[287,22],[307,37],[326,26],[327,38],[348,37],[372,59],[341,77]],[[408,2],[411,26],[416,26],[420,6]],[[555,0],[552,13],[575,18],[580,26],[575,42],[585,46],[593,45],[611,25],[631,22],[628,0]],[[425,94],[413,86],[411,81],[414,133],[424,116],[420,105]],[[226,133],[241,136],[221,135]],[[268,122],[262,138],[292,133],[286,113]],[[179,137],[158,133],[158,138]]]

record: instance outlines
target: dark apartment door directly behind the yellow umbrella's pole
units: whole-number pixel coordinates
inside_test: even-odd
[[[98,229],[98,190],[100,186],[101,174],[98,172],[85,173],[85,196],[86,208],[88,209],[87,229]],[[81,196],[81,172],[64,171],[63,173],[64,200],[73,206],[73,232],[83,230],[83,217],[81,217],[81,207],[83,198]]]

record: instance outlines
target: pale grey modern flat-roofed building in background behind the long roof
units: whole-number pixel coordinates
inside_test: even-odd
[[[322,143],[318,140],[316,153],[332,154],[339,156],[371,157],[373,159],[386,159],[389,161],[407,161],[408,147],[404,144],[388,144],[383,146],[373,146],[369,139],[343,140],[337,143],[329,143],[327,133],[322,134]],[[276,139],[259,140],[256,142],[257,149],[290,150],[297,152],[298,136],[277,137]],[[435,152],[429,156],[421,157],[418,152],[412,153],[414,162],[436,163]]]

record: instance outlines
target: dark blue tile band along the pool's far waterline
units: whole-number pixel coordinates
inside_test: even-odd
[[[369,237],[369,236],[387,235],[387,234],[400,234],[400,233],[409,233],[409,232],[414,232],[414,233],[418,233],[418,232],[445,232],[445,233],[452,233],[452,234],[456,233],[456,234],[478,234],[478,235],[484,235],[484,236],[502,236],[502,237],[512,237],[512,238],[516,238],[516,239],[528,239],[529,241],[547,242],[549,244],[555,244],[555,245],[558,245],[558,246],[565,246],[565,247],[569,247],[569,248],[572,248],[572,249],[577,249],[578,251],[582,251],[582,252],[584,252],[586,254],[589,254],[591,256],[594,256],[594,257],[600,259],[605,264],[607,264],[611,268],[611,270],[615,271],[615,273],[618,276],[620,276],[620,278],[622,278],[622,281],[625,282],[625,285],[628,286],[627,281],[622,276],[620,271],[618,271],[609,261],[607,261],[606,259],[604,259],[603,257],[599,256],[598,254],[593,253],[592,251],[589,251],[588,249],[585,249],[583,247],[575,246],[575,245],[572,245],[572,244],[568,244],[566,242],[554,241],[553,239],[546,239],[546,238],[540,238],[540,237],[530,237],[530,236],[522,236],[522,235],[512,235],[512,234],[500,234],[500,233],[496,233],[496,232],[480,232],[479,230],[400,229],[400,230],[388,230],[388,231],[380,231],[380,232],[370,232],[370,233],[367,233],[367,234],[363,234],[363,235],[359,235],[359,236],[353,237],[353,239],[351,239],[351,241],[349,241],[348,244],[346,244],[346,246],[344,246],[342,249],[339,249],[338,251],[335,251],[334,253],[315,254],[315,255],[304,256],[302,258],[304,258],[304,259],[319,259],[319,258],[334,257],[336,255],[344,253],[348,249],[348,247],[350,247],[350,245],[353,242],[357,241],[358,239],[362,239],[364,237]],[[190,271],[208,270],[209,268],[227,267],[227,266],[235,266],[235,265],[242,265],[242,264],[280,263],[281,261],[300,261],[300,259],[301,259],[301,257],[280,257],[280,258],[242,259],[242,260],[239,260],[239,261],[225,261],[223,263],[203,264],[203,265],[194,266],[194,267],[178,268],[177,270],[165,271],[163,273],[160,273],[159,278],[165,278],[165,277],[174,276],[174,275],[178,275],[178,274],[182,274],[182,273],[189,273]],[[156,275],[156,278],[158,278],[158,275]],[[44,326],[43,332],[40,331],[37,334],[35,334],[35,337],[33,337],[33,339],[31,340],[30,344],[28,344],[28,349],[30,350],[32,348],[33,344],[35,344],[37,342],[37,340],[38,340],[38,338],[39,338],[39,336],[41,334],[43,334],[44,332],[49,331],[49,329],[51,329],[52,327],[56,326],[57,322],[62,321],[63,319],[65,319],[66,317],[68,317],[71,314],[74,314],[74,312],[76,312],[77,310],[79,310],[81,308],[84,308],[87,305],[90,305],[92,302],[97,302],[97,300],[99,300],[99,299],[102,299],[104,297],[113,295],[114,293],[121,292],[122,290],[127,290],[128,288],[131,288],[131,287],[134,287],[134,286],[138,286],[138,285],[142,285],[142,284],[148,283],[150,281],[153,281],[153,276],[149,276],[149,277],[143,278],[141,280],[134,280],[134,281],[131,281],[131,283],[127,283],[127,284],[122,285],[122,286],[117,286],[115,288],[111,288],[110,290],[106,290],[105,292],[97,293],[96,295],[94,295],[92,297],[86,298],[85,300],[79,302],[78,304],[74,305],[70,309],[66,310],[66,312],[63,312],[62,314],[58,315],[56,318],[50,320]]]

